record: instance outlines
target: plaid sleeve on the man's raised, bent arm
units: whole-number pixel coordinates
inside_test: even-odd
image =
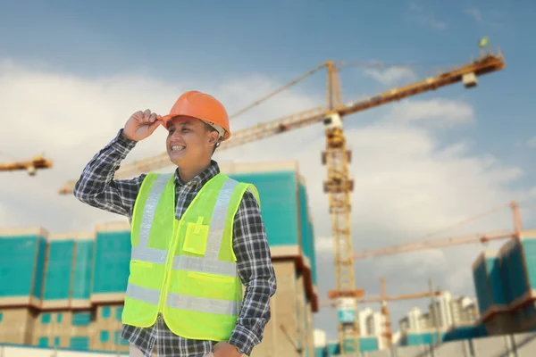
[[[113,180],[121,161],[137,144],[136,141],[121,134],[122,129],[88,162],[74,187],[73,194],[90,206],[130,218],[145,175],[135,179]]]

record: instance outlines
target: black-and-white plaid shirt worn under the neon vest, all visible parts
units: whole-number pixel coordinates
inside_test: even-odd
[[[121,135],[122,129],[112,142],[106,145],[82,171],[74,187],[74,195],[83,203],[121,214],[131,220],[138,190],[145,175],[128,180],[113,180],[115,170],[136,145]],[[219,166],[211,165],[187,184],[181,182],[179,170],[175,170],[176,211],[180,220],[189,203],[201,187],[220,172]],[[246,286],[242,309],[229,343],[238,347],[240,353],[249,355],[263,338],[266,323],[270,320],[270,297],[275,294],[276,278],[272,266],[270,248],[264,231],[264,222],[254,195],[246,192],[235,215],[233,249],[237,257],[238,273]],[[136,345],[146,356],[153,347],[158,357],[201,357],[212,351],[213,341],[191,340],[176,336],[166,326],[162,315],[154,326],[138,328],[123,325],[121,337]]]

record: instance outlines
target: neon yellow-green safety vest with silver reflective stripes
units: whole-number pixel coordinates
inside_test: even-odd
[[[233,221],[246,190],[260,204],[255,186],[218,174],[176,220],[174,175],[147,175],[131,221],[123,323],[149,327],[162,312],[178,336],[229,340],[242,303]]]

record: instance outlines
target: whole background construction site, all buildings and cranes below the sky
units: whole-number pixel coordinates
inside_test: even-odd
[[[477,58],[462,66],[346,104],[341,100],[339,78],[344,63],[327,61],[235,114],[241,115],[274,95],[284,95],[285,89],[316,71],[327,73],[325,105],[235,131],[218,148],[246,145],[317,124],[325,134],[325,148],[318,154],[319,165],[325,167],[323,187],[307,185],[299,162],[292,160],[291,154],[289,161],[283,162],[220,164],[222,173],[231,179],[258,188],[277,277],[272,318],[253,357],[536,354],[536,229],[523,227],[521,203],[505,203],[511,210],[512,229],[372,250],[356,246],[359,240],[350,228],[352,192],[358,183],[350,174],[354,171],[352,152],[344,121],[354,120],[359,112],[442,87],[479,90],[486,85],[483,79],[483,84],[478,83],[481,76],[493,76],[506,68],[500,50],[480,50]],[[5,162],[0,170],[26,170],[38,179],[39,170],[54,170],[53,160],[38,156]],[[159,154],[121,165],[115,179],[169,170],[171,164],[167,153]],[[65,181],[58,187],[58,195],[74,199],[76,180]],[[335,276],[328,295],[318,293],[315,222],[309,199],[313,190],[322,190],[330,203],[324,210],[326,219],[331,219]],[[482,250],[474,257],[473,267],[467,267],[473,271],[474,298],[452,296],[432,281],[423,286],[422,292],[388,294],[383,278],[379,281],[381,294],[370,295],[356,278],[356,260],[491,241],[500,241],[502,247]],[[91,231],[0,228],[0,357],[128,355],[129,343],[120,333],[130,252],[128,221],[110,220]],[[429,311],[415,308],[406,318],[391,320],[391,303],[414,299],[428,299]],[[378,303],[381,311],[362,309],[364,303]],[[336,340],[314,326],[315,314],[321,309],[330,309],[337,319]]]

